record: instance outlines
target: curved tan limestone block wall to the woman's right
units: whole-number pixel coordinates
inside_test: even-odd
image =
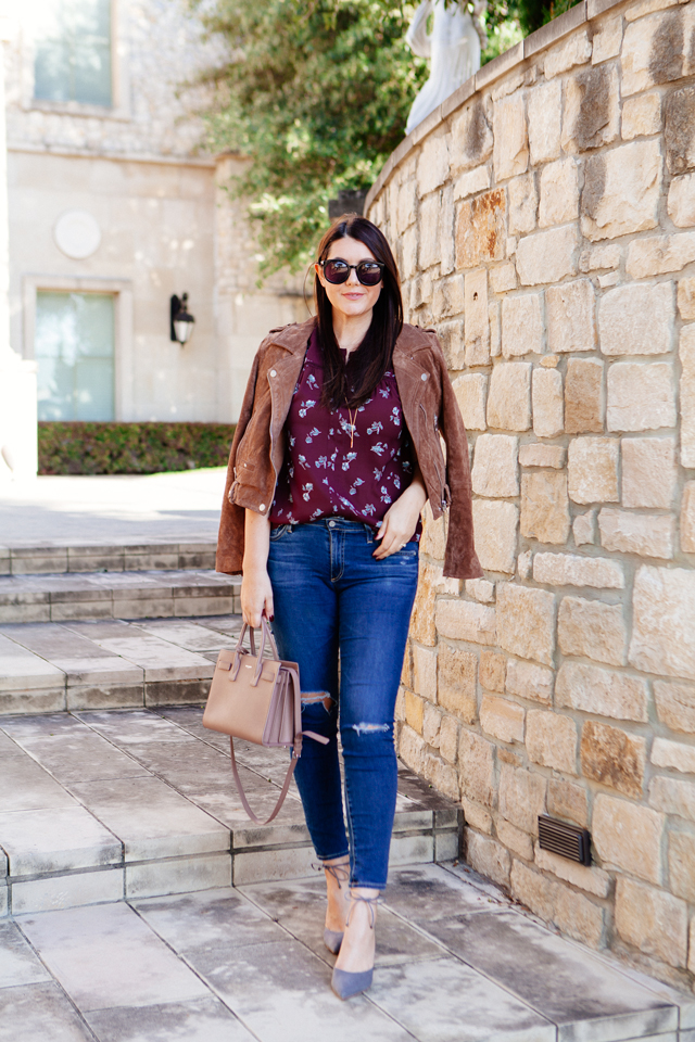
[[[438,330],[485,577],[426,524],[403,759],[468,861],[695,979],[695,2],[589,0],[484,66],[366,213]],[[594,864],[539,849],[586,826]]]

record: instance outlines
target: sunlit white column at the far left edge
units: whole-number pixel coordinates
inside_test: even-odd
[[[10,20],[0,5],[0,479],[34,478],[38,470],[36,363],[10,343],[10,231],[8,220],[8,136],[4,43]],[[7,8],[5,8],[7,10]]]

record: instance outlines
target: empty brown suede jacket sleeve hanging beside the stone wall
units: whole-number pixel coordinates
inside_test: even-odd
[[[432,353],[442,386],[439,422],[446,443],[446,484],[451,497],[444,575],[453,579],[480,579],[483,571],[476,555],[473,538],[468,437],[437,334],[432,334]]]

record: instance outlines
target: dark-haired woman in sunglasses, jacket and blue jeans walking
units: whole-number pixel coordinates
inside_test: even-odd
[[[302,724],[329,739],[304,744],[295,778],[326,874],[332,987],[348,999],[371,983],[396,798],[393,716],[428,498],[434,518],[450,512],[444,574],[482,572],[460,414],[435,335],[403,323],[387,240],[344,215],[315,270],[316,318],[273,330],[254,360],[217,569],[242,570],[244,622],[270,620],[280,657],[300,665]]]

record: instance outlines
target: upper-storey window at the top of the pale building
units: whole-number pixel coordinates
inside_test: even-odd
[[[111,0],[37,0],[34,97],[111,105]]]

